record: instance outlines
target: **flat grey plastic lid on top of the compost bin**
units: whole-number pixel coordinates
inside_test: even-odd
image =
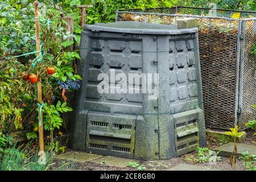
[[[176,25],[154,24],[135,21],[86,24],[84,29],[91,31],[119,32],[131,34],[176,35],[197,32],[197,27],[177,29]]]

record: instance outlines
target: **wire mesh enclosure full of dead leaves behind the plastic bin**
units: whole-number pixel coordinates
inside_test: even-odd
[[[177,18],[197,18],[205,125],[246,129],[256,118],[256,11],[177,6],[121,10],[117,20],[176,24]]]

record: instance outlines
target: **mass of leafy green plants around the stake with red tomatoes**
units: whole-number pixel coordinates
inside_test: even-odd
[[[75,1],[74,1],[75,2]],[[8,55],[20,55],[35,51],[35,18],[34,1],[3,1],[0,2],[0,58]],[[65,31],[65,22],[61,18],[61,11],[53,1],[44,1],[47,5],[46,16],[40,16],[40,38],[42,44],[42,63],[31,68],[32,59],[36,55],[9,57],[2,60],[0,65],[0,132],[11,133],[14,130],[30,129],[28,139],[36,137],[38,114],[36,114],[37,92],[36,84],[23,81],[22,72],[39,73],[42,75],[43,96],[45,107],[50,113],[52,127],[59,129],[63,122],[62,113],[71,111],[66,104],[59,105],[65,98],[57,80],[77,80],[72,68],[75,59],[80,60],[79,53],[66,52],[65,47],[73,42],[68,38],[75,37],[71,32]],[[13,35],[15,34],[15,36]],[[61,43],[61,40],[63,42]],[[55,68],[55,75],[46,73],[47,67]],[[72,91],[72,90],[67,90]],[[54,96],[54,99],[53,99]],[[57,105],[56,105],[57,103]],[[49,116],[44,113],[44,129],[49,130]],[[35,130],[36,129],[36,130]]]

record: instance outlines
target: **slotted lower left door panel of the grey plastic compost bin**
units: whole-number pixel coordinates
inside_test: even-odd
[[[86,152],[134,158],[135,119],[133,115],[89,111]]]

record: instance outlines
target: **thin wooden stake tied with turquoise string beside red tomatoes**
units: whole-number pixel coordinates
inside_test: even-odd
[[[35,1],[34,3],[35,5],[35,29],[36,29],[36,56],[37,56],[37,60],[40,59],[39,54],[40,54],[40,26],[39,26],[39,2]],[[39,104],[43,104],[43,100],[42,100],[42,78],[41,78],[41,73],[38,71],[37,72],[38,75],[38,102]],[[40,109],[40,108],[38,108]],[[38,111],[38,115],[39,115],[39,120],[41,118],[41,125],[39,125],[39,152],[44,151],[44,127],[43,127],[43,111],[40,112]]]

